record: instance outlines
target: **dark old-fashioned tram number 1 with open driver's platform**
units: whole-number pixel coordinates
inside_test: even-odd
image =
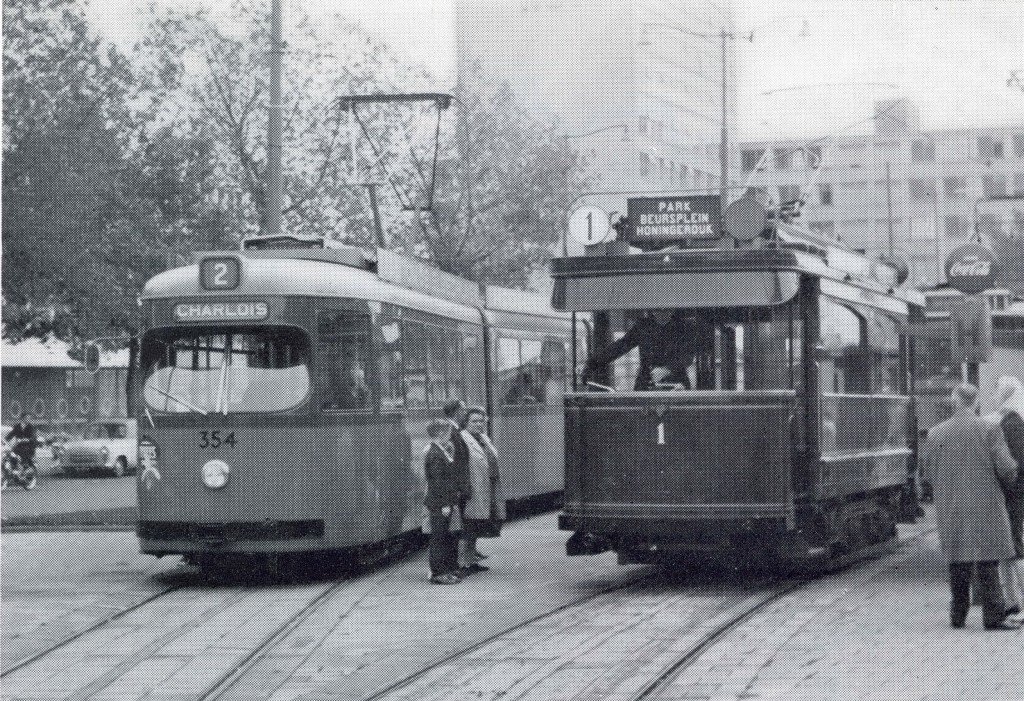
[[[714,231],[632,218],[552,263],[553,306],[593,317],[587,376],[565,396],[567,553],[807,561],[892,538],[916,510],[924,298],[905,269],[745,198],[703,216]],[[675,321],[659,330],[659,314]]]

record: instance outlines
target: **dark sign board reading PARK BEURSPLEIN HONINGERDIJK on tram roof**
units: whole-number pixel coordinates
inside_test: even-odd
[[[632,243],[720,238],[721,220],[717,194],[630,198],[624,233]]]

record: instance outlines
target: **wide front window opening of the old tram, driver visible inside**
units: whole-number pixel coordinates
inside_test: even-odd
[[[599,313],[582,380],[615,391],[799,389],[802,339],[796,304]]]

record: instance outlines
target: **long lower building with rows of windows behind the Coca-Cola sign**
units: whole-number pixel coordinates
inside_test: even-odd
[[[944,280],[945,257],[976,227],[992,245],[993,229],[1012,234],[1019,226],[1024,122],[925,131],[914,105],[900,99],[879,102],[872,125],[810,144],[744,142],[741,177],[776,202],[804,200],[801,220],[812,229],[902,255],[918,287]]]

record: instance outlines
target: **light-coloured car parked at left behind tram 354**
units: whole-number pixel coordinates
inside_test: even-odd
[[[138,466],[138,422],[105,419],[90,424],[85,438],[68,441],[53,456],[66,475],[106,472],[121,477],[134,473]]]

